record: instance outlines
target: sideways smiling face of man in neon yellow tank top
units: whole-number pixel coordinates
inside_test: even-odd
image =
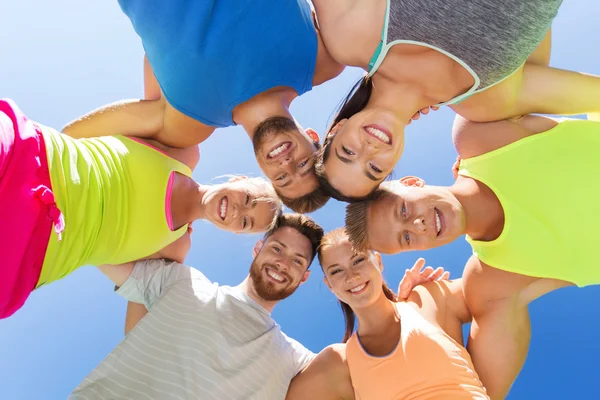
[[[427,250],[464,234],[460,202],[445,187],[383,183],[390,191],[369,205],[369,247],[381,253]]]

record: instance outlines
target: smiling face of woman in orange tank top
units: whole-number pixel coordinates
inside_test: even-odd
[[[352,309],[367,307],[383,294],[383,264],[378,253],[357,253],[344,240],[322,249],[321,266],[329,290]]]

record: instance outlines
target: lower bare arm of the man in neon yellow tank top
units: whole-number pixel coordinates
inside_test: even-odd
[[[467,349],[490,398],[504,399],[527,358],[529,303],[571,284],[501,271],[475,256],[465,266],[463,281],[473,315]]]

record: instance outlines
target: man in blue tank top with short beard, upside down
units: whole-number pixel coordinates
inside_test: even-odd
[[[111,104],[64,128],[73,137],[126,134],[172,147],[242,126],[263,172],[297,212],[329,197],[314,174],[319,138],[289,107],[344,69],[324,46],[307,0],[119,0],[139,35],[155,100]],[[93,124],[89,123],[93,120]]]

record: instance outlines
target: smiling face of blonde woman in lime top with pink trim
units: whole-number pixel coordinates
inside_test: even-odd
[[[235,177],[210,186],[202,199],[206,219],[235,233],[265,232],[275,218],[272,191],[264,181]]]

